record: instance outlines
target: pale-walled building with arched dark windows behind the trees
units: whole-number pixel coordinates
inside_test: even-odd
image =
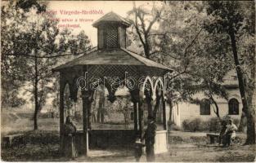
[[[218,104],[220,117],[229,116],[234,119],[240,119],[242,113],[242,102],[240,98],[240,90],[236,71],[232,70],[227,73],[223,79],[228,94],[227,99],[215,97]],[[173,106],[171,121],[177,126],[182,127],[182,121],[200,118],[202,121],[208,121],[212,117],[217,117],[214,112],[215,107],[209,104],[209,99],[205,97],[204,93],[198,93],[193,96],[195,99],[200,99],[200,104],[179,103]]]

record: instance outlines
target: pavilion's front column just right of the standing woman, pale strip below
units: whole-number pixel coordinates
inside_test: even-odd
[[[88,112],[92,106],[92,91],[82,90],[83,101],[83,153],[84,156],[88,156],[89,152],[89,139],[88,139],[88,127],[89,127],[89,115]]]

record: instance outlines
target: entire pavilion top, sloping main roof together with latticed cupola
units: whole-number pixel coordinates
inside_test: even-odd
[[[129,21],[120,15],[110,12],[97,20],[93,27],[97,28],[98,45],[97,50],[89,54],[73,59],[66,64],[62,64],[53,69],[72,68],[81,65],[126,65],[126,66],[146,66],[159,68],[161,70],[172,71],[171,68],[153,60],[146,59],[135,52],[126,49],[126,28],[130,25]]]

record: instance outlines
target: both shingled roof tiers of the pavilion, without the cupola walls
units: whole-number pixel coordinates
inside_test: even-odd
[[[113,22],[119,22],[119,24],[128,27],[130,24],[128,20],[125,20],[121,16],[114,12],[102,16],[94,24],[94,27],[102,24],[112,24]],[[98,38],[99,39],[99,38]],[[92,51],[88,54],[82,55],[77,59],[73,59],[66,64],[62,64],[53,69],[53,71],[60,71],[62,68],[72,68],[78,65],[130,65],[130,66],[146,66],[151,68],[161,68],[164,70],[172,71],[171,68],[164,66],[163,64],[156,63],[153,60],[146,59],[141,55],[137,55],[132,51],[128,51],[122,47],[118,48],[99,48],[97,51]]]

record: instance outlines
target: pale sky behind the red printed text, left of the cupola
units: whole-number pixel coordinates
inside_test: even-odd
[[[139,1],[136,2],[137,6],[141,4],[149,4],[149,2]],[[127,12],[132,10],[132,1],[51,1],[48,4],[49,14],[54,14],[56,18],[60,20],[73,20],[73,22],[61,22],[59,24],[79,24],[80,28],[70,28],[73,33],[79,33],[84,30],[85,33],[92,41],[93,46],[97,46],[97,29],[92,27],[93,22],[100,19],[106,13],[113,11],[118,15],[127,17]],[[81,14],[64,15],[64,11],[102,11],[100,14],[87,14],[83,12]],[[78,22],[74,22],[77,19]],[[79,19],[85,21],[79,22]],[[60,27],[60,29],[63,29]]]

